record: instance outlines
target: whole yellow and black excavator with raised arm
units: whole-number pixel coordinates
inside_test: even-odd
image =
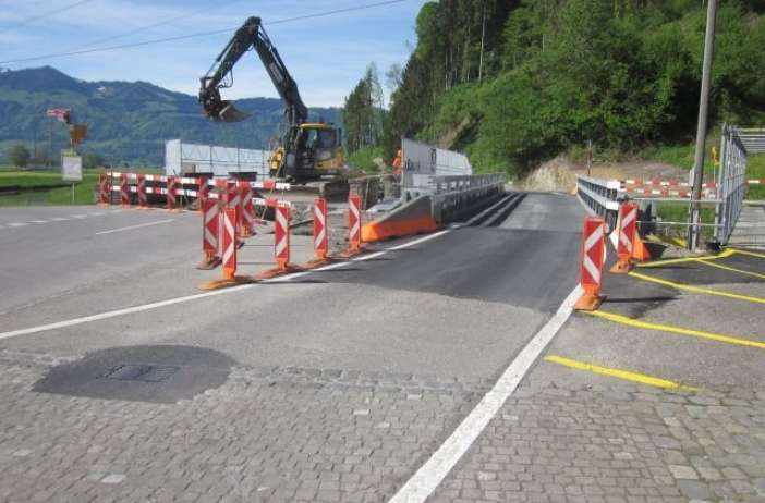
[[[224,100],[220,90],[231,87],[229,78],[236,62],[255,49],[268,76],[284,102],[286,128],[269,159],[272,177],[295,184],[329,181],[335,191],[348,186],[342,149],[342,132],[332,124],[308,122],[308,109],[298,91],[298,84],[263,28],[260,17],[248,17],[201,78],[199,103],[204,114],[216,122],[239,122],[250,114]],[[321,192],[326,191],[321,187]]]

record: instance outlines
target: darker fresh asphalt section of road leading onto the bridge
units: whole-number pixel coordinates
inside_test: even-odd
[[[578,232],[462,228],[405,252],[406,260],[356,261],[350,268],[314,274],[331,283],[435,293],[554,312],[576,284],[573,271],[579,246]]]

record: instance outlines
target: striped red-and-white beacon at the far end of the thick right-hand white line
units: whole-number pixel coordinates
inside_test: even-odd
[[[600,284],[605,261],[606,222],[599,217],[586,217],[582,230],[581,284],[584,294],[574,308],[593,311],[600,306]]]

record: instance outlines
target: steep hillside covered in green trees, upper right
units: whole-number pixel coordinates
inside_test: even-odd
[[[639,152],[695,133],[699,0],[441,0],[416,21],[378,145],[401,136],[522,174],[592,140]],[[722,0],[711,124],[765,122],[765,4]]]

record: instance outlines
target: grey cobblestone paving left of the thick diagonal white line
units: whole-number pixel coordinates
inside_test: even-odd
[[[0,353],[0,501],[385,501],[488,384],[235,368],[170,405],[31,391],[69,360]]]

